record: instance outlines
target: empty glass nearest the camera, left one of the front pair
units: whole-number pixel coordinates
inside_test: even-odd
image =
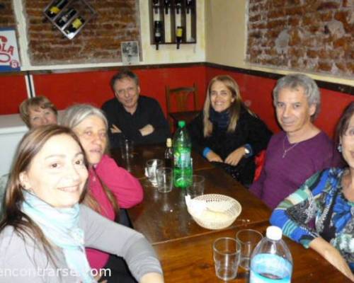
[[[212,245],[215,273],[219,279],[236,278],[240,261],[240,244],[234,238],[217,238]]]

